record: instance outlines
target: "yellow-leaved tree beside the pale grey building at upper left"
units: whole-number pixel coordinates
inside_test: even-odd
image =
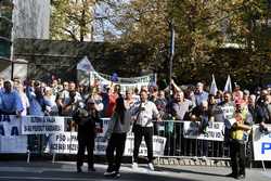
[[[94,7],[98,0],[53,0],[51,38],[93,40]]]

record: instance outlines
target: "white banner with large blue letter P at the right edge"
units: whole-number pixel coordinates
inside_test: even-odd
[[[271,130],[271,125],[268,125]],[[254,126],[254,160],[271,160],[271,132],[260,132],[259,126]]]

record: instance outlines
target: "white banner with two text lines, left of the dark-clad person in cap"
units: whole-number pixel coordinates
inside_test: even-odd
[[[22,134],[47,134],[64,131],[64,117],[22,117]]]

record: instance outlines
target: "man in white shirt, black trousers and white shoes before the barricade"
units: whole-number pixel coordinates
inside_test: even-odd
[[[141,90],[140,102],[132,108],[134,144],[133,144],[133,163],[132,168],[138,168],[139,147],[144,137],[147,147],[149,167],[154,170],[153,166],[153,119],[160,120],[159,112],[156,105],[147,101],[147,91]]]

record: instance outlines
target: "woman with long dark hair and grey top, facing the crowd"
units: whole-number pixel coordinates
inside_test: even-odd
[[[105,138],[108,139],[106,147],[108,167],[104,176],[120,177],[119,168],[125,151],[126,134],[130,130],[130,111],[126,107],[122,96],[119,96],[116,100],[116,107],[109,121],[108,129],[105,133]],[[114,161],[115,151],[116,156]]]

